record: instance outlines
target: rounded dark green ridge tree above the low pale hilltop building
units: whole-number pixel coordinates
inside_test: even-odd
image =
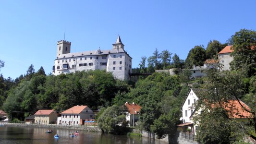
[[[203,66],[206,60],[206,50],[202,46],[195,46],[190,49],[187,58],[185,60],[185,66],[187,69],[193,68],[193,65]]]

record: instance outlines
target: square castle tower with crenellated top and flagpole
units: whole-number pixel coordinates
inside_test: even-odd
[[[62,54],[70,53],[71,42],[60,40],[57,42],[57,57]]]

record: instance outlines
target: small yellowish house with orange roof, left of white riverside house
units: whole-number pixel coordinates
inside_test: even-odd
[[[57,120],[57,112],[53,109],[38,110],[35,114],[35,123],[49,124]]]

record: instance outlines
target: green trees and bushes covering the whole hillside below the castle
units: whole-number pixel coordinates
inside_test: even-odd
[[[0,75],[0,108],[12,120],[24,120],[38,109],[63,111],[74,105],[87,105],[92,110],[100,109],[97,121],[103,132],[125,134],[130,129],[125,121],[128,110],[123,106],[126,101],[135,102],[142,107],[137,129],[154,132],[158,138],[168,135],[174,139],[176,125],[181,123],[180,108],[189,88],[202,88],[208,90],[202,98],[212,103],[233,97],[242,99],[251,108],[249,111],[253,117],[249,118],[251,123],[241,125],[230,119],[228,111],[223,108],[212,109],[209,107],[211,103],[199,100],[196,106],[209,108],[210,111],[195,118],[204,126],[199,126],[198,142],[226,144],[243,141],[244,135],[256,139],[255,31],[242,29],[225,44],[210,41],[206,49],[195,46],[186,60],[181,60],[177,54],[171,56],[168,50],[159,53],[156,49],[148,59],[142,57],[139,68],[133,71],[143,73],[158,69],[189,69],[193,64],[200,66],[206,59],[216,58],[217,53],[227,45],[232,45],[234,49],[231,71],[206,70],[206,77],[192,80],[187,70],[174,76],[155,72],[147,77],[140,76],[133,84],[116,80],[110,72],[100,70],[53,76],[46,75],[43,67],[35,72],[33,65],[30,65],[26,74],[15,80]],[[3,66],[4,62],[0,60],[0,68]]]

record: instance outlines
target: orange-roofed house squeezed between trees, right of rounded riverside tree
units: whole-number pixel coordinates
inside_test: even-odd
[[[137,104],[130,104],[128,102],[125,103],[125,106],[128,108],[128,115],[126,116],[126,120],[129,121],[130,126],[134,126],[135,122],[139,120],[139,111],[141,107]]]

